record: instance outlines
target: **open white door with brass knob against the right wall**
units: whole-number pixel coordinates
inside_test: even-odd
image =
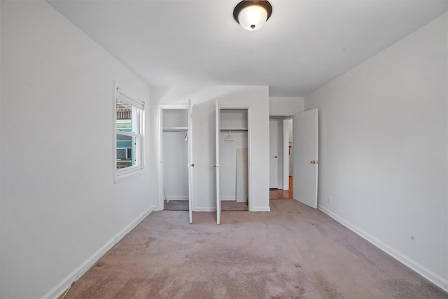
[[[318,123],[317,109],[294,114],[293,198],[317,209]]]

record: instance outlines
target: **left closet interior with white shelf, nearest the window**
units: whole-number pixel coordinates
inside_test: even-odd
[[[162,109],[164,209],[188,211],[188,109]]]

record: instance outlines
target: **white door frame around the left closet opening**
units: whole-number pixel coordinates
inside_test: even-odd
[[[165,209],[163,202],[163,110],[168,109],[185,109],[188,111],[188,104],[158,104],[158,189],[159,189],[159,204],[158,211]],[[194,198],[189,198],[191,209],[193,209]]]

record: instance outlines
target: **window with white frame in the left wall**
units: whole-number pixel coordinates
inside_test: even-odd
[[[144,171],[144,102],[119,86],[114,102],[114,163],[118,183]]]

